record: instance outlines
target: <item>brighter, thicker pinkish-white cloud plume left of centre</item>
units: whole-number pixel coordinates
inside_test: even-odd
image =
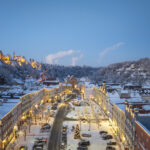
[[[48,64],[56,64],[58,63],[59,59],[65,57],[65,56],[69,56],[69,55],[73,55],[75,53],[74,50],[68,50],[68,51],[60,51],[57,52],[55,54],[50,54],[48,56],[46,56],[46,63]]]

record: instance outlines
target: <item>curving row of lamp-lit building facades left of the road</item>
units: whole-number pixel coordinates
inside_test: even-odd
[[[63,91],[62,91],[63,92]],[[40,91],[24,95],[20,102],[5,116],[0,119],[0,150],[4,150],[20,126],[27,121],[32,112],[40,107],[43,102],[58,94],[58,89],[42,89]]]

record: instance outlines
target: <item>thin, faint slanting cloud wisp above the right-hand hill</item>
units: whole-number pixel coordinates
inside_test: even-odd
[[[102,52],[99,54],[99,61],[102,61],[105,55],[107,55],[110,51],[118,49],[120,46],[124,45],[123,42],[116,43],[110,47],[105,48]]]

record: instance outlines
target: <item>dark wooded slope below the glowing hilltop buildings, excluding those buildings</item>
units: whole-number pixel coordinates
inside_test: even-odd
[[[64,80],[68,75],[73,75],[77,78],[89,77],[91,78],[93,72],[97,71],[97,68],[88,66],[59,66],[41,64],[40,69],[33,68],[31,64],[23,64],[20,66],[16,64],[6,64],[0,61],[0,84],[13,84],[14,79],[20,79],[24,81],[27,77],[34,79],[40,79],[40,74],[46,70],[46,77],[56,77],[59,80]]]

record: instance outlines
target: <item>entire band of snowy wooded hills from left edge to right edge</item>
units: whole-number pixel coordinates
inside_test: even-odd
[[[143,58],[99,68],[49,64],[40,64],[39,68],[34,68],[30,63],[18,65],[18,63],[6,64],[0,61],[0,84],[12,84],[14,79],[24,81],[27,77],[39,79],[40,74],[45,70],[48,78],[56,77],[61,81],[68,75],[74,75],[77,78],[89,77],[93,83],[104,80],[113,83],[150,83],[150,58]]]

